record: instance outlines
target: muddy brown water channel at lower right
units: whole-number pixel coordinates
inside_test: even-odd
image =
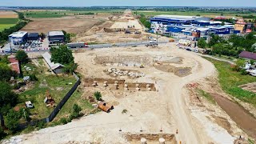
[[[256,118],[249,114],[248,110],[219,94],[211,95],[218,105],[226,111],[226,114],[229,114],[230,118],[232,118],[246,134],[252,138],[256,138]]]

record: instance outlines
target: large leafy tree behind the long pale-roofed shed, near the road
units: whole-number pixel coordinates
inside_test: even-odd
[[[62,65],[74,63],[72,51],[67,46],[59,46],[59,48],[50,48],[51,62],[61,63]]]

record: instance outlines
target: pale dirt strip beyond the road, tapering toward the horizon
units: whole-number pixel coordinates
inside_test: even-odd
[[[73,38],[73,42],[142,42],[149,40],[149,37],[155,37],[153,34],[143,32],[143,27],[138,22],[138,19],[135,19],[129,11],[121,16],[108,18],[102,25],[93,26],[90,30],[78,34]],[[128,28],[128,26],[131,28]],[[125,30],[130,30],[132,34],[125,34]],[[135,31],[139,31],[141,34],[134,34]],[[166,39],[168,38],[160,37],[159,41]]]

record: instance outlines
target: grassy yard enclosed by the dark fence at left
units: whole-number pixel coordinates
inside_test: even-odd
[[[31,70],[26,70],[23,65],[22,71],[24,76],[36,74],[38,81],[34,82],[34,85],[29,90],[19,95],[18,106],[24,105],[26,101],[31,101],[34,104],[34,108],[30,110],[32,119],[46,118],[54,110],[54,108],[46,107],[46,104],[43,102],[46,97],[46,91],[49,91],[55,103],[58,104],[74,85],[76,79],[72,75],[52,75],[47,72],[48,68],[46,66],[37,67],[31,62],[26,64],[26,66],[30,67]],[[72,106],[70,109],[72,109]]]

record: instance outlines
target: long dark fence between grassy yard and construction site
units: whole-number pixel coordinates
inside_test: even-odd
[[[78,76],[76,74],[73,73],[74,78],[76,78],[76,82],[74,83],[74,86],[72,86],[72,88],[70,89],[70,91],[65,95],[64,98],[62,98],[62,101],[58,103],[58,105],[54,108],[54,110],[51,112],[51,114],[49,115],[49,117],[47,118],[42,118],[42,119],[38,119],[36,121],[31,121],[31,122],[26,122],[26,123],[21,123],[19,124],[18,128],[19,129],[24,129],[27,126],[35,126],[37,125],[39,122],[51,122],[54,120],[54,118],[56,117],[56,115],[58,114],[58,112],[60,110],[62,110],[62,107],[65,105],[66,101],[69,100],[69,98],[72,96],[72,94],[74,93],[75,90],[77,90],[78,86],[80,85],[81,81],[80,78],[78,78]],[[1,116],[1,115],[0,115]]]

